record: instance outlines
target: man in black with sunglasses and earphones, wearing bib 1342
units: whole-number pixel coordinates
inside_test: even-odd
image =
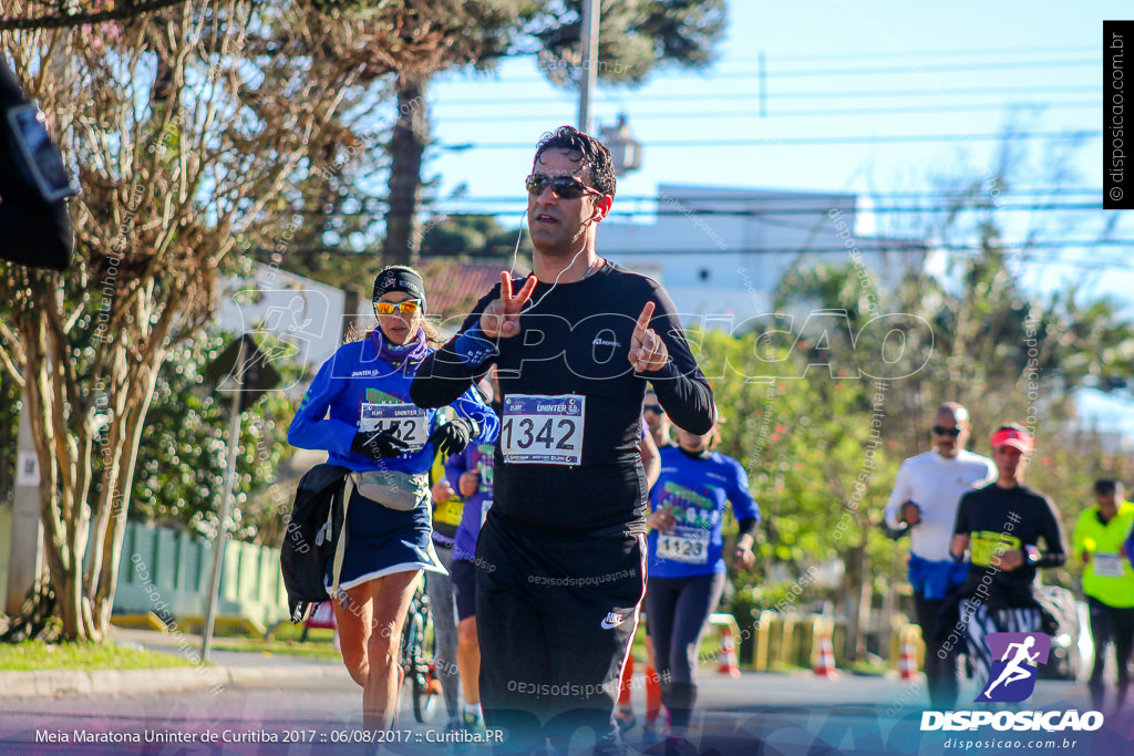
[[[534,274],[519,287],[502,273],[411,396],[441,406],[499,368],[496,499],[476,547],[485,723],[507,730],[507,750],[565,745],[579,728],[618,750],[615,697],[645,588],[646,382],[693,433],[716,410],[666,291],[595,250],[610,152],[561,127],[526,186]]]

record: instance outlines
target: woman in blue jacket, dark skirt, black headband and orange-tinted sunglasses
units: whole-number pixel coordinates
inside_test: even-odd
[[[355,472],[348,545],[338,585],[332,585],[331,563],[327,585],[328,593],[338,589],[335,620],[342,662],[363,688],[363,724],[389,730],[409,601],[423,570],[445,571],[430,538],[429,468],[437,451],[456,453],[469,441],[491,443],[500,423],[472,389],[450,405],[458,417],[445,424],[438,424],[435,409],[411,401],[414,373],[433,351],[422,317],[425,287],[416,271],[383,270],[374,280],[373,303],[379,328],[342,345],[319,368],[288,442],[324,449],[331,465]]]

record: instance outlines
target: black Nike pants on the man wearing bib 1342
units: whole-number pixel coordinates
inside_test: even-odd
[[[645,537],[532,532],[489,510],[476,544],[481,705],[501,753],[611,732],[645,591]],[[493,747],[496,750],[496,747]]]

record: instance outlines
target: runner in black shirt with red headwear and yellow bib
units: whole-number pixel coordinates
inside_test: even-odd
[[[953,555],[968,550],[968,577],[959,592],[960,622],[976,685],[984,690],[991,662],[990,632],[1055,634],[1053,620],[1035,601],[1035,570],[1059,567],[1066,545],[1051,500],[1022,483],[1032,436],[1018,425],[992,434],[992,461],[999,478],[960,498],[953,528]],[[1044,551],[1040,551],[1042,538]],[[947,643],[953,643],[949,638]]]

